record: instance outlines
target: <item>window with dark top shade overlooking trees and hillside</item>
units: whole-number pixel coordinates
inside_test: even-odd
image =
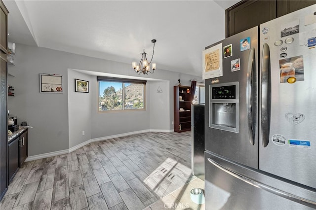
[[[146,81],[97,77],[99,112],[115,110],[145,110]]]

